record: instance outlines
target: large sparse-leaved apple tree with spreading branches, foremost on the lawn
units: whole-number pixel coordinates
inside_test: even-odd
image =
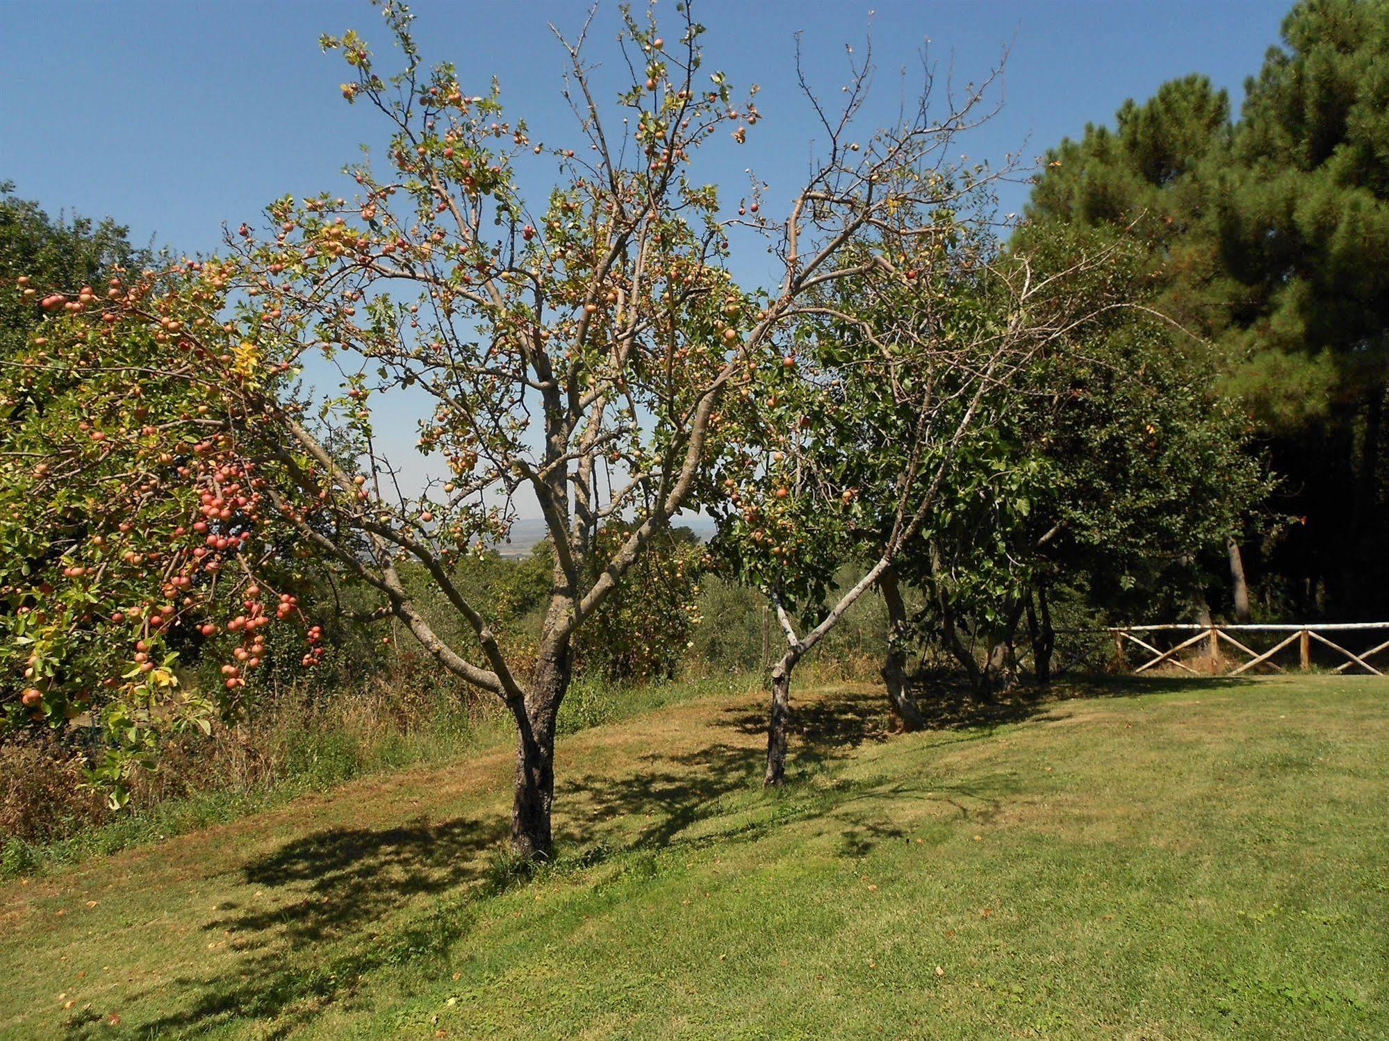
[[[321,561],[335,583],[369,595],[363,622],[394,619],[439,668],[506,706],[517,729],[513,847],[543,859],[551,852],[556,719],[576,633],[672,516],[724,494],[713,473],[746,437],[742,393],[783,368],[778,343],[800,321],[797,307],[840,280],[896,269],[889,257],[907,248],[899,240],[918,232],[889,218],[940,201],[932,157],[939,165],[970,125],[982,89],[939,115],[922,100],[896,125],[860,137],[854,118],[868,71],[854,69],[840,111],[814,103],[826,132],[822,158],[785,218],[772,219],[756,183],[735,214],[713,185],[693,178],[701,144],[714,135],[742,143],[763,117],[753,96],[735,97],[726,76],[706,68],[703,29],[686,7],[668,37],[649,17],[624,11],[632,81],[618,97],[619,122],[600,103],[583,57],[588,29],[560,40],[576,114],[569,142],[533,140],[526,121],[504,112],[496,85],[478,92],[454,67],[425,65],[408,10],[386,3],[382,11],[403,56],[393,72],[378,69],[354,32],[322,40],[347,62],[347,101],[390,135],[383,165],[349,168],[350,198],[276,200],[264,226],[233,229],[222,258],[183,265],[171,289],[122,283],[114,296],[64,296],[53,333],[40,339],[61,341],[58,366],[68,373],[79,358],[90,368],[138,348],[149,353],[139,368],[150,379],[208,394],[206,414],[200,407],[132,428],[181,450],[156,457],[168,455],[158,465],[172,468],[156,489],[143,475],[125,479],[126,498],[111,500],[110,512],[132,532],[171,537],[185,529],[175,539],[188,539],[188,522],[201,515],[208,530],[193,520],[192,532],[214,543],[189,554],[207,548],[194,558],[213,559],[171,564],[156,550],[151,562],[143,547],[122,544],[146,565],[143,575],[131,565],[133,576],[158,591],[174,579],[197,584],[185,566],[239,573],[215,591],[208,583],[207,597],[231,597],[238,613],[224,615],[225,625],[254,638],[261,619],[293,618],[297,605],[292,586],[271,573],[281,558],[257,555],[254,534],[251,551],[240,548],[244,522],[254,532],[288,526],[294,548]],[[549,187],[533,196],[532,183]],[[876,235],[865,246],[868,229]],[[735,243],[760,248],[758,236],[774,244],[778,273],[771,289],[751,293],[733,282],[729,258]],[[47,364],[35,358],[31,368]],[[111,379],[81,397],[69,441],[106,433],[92,423],[99,414],[129,426],[129,400],[117,387],[126,366],[108,369]],[[288,382],[300,372],[308,380],[296,391]],[[419,401],[418,448],[438,472],[415,486],[378,423],[397,422]],[[51,455],[58,439],[38,444]],[[140,494],[147,500],[132,498]],[[494,632],[454,580],[467,554],[504,537],[522,501],[536,504],[553,547],[533,647]],[[161,512],[144,525],[136,508]],[[471,633],[467,644],[432,625],[407,568],[428,576]],[[83,572],[85,595],[117,602],[92,584],[107,575]],[[157,619],[176,616],[179,597],[192,595],[178,583],[178,595],[161,602],[133,594],[142,618]],[[306,640],[317,638],[310,627]],[[140,662],[128,647],[111,651],[132,658],[119,663],[128,666],[121,676],[139,679],[139,666],[161,654],[160,644],[143,643],[151,650],[133,651],[146,655]],[[254,644],[240,650],[254,657]],[[228,669],[228,683],[243,679],[239,659]],[[57,675],[49,683],[46,690],[71,686]]]

